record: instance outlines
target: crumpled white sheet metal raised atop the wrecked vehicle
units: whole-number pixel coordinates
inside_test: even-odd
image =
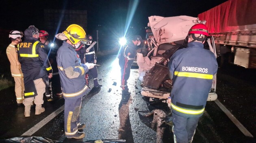
[[[148,19],[148,26],[151,27],[159,45],[185,39],[189,29],[200,22],[197,17],[184,15],[176,17],[151,16]]]

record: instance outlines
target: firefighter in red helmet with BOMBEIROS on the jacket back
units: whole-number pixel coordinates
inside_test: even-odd
[[[199,118],[217,73],[215,55],[204,49],[208,36],[204,24],[196,24],[189,30],[187,48],[177,50],[170,58],[169,72],[173,80],[171,111],[175,143],[191,143]]]

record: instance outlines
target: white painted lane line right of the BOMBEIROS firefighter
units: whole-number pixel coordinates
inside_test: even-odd
[[[243,132],[245,136],[253,137],[253,135],[239,122],[239,120],[236,119],[236,117],[234,117],[234,115],[230,113],[230,111],[228,111],[228,109],[223,104],[221,104],[221,102],[219,102],[218,99],[215,100],[215,103],[228,116],[228,118],[230,118],[230,120],[237,126],[237,128]]]

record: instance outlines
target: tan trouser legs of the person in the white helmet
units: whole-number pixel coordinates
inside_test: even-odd
[[[23,77],[13,77],[15,81],[15,95],[17,103],[22,103],[24,100],[24,81]]]

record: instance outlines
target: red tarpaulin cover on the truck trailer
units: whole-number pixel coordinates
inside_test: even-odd
[[[198,15],[209,33],[256,28],[256,0],[228,0]]]

